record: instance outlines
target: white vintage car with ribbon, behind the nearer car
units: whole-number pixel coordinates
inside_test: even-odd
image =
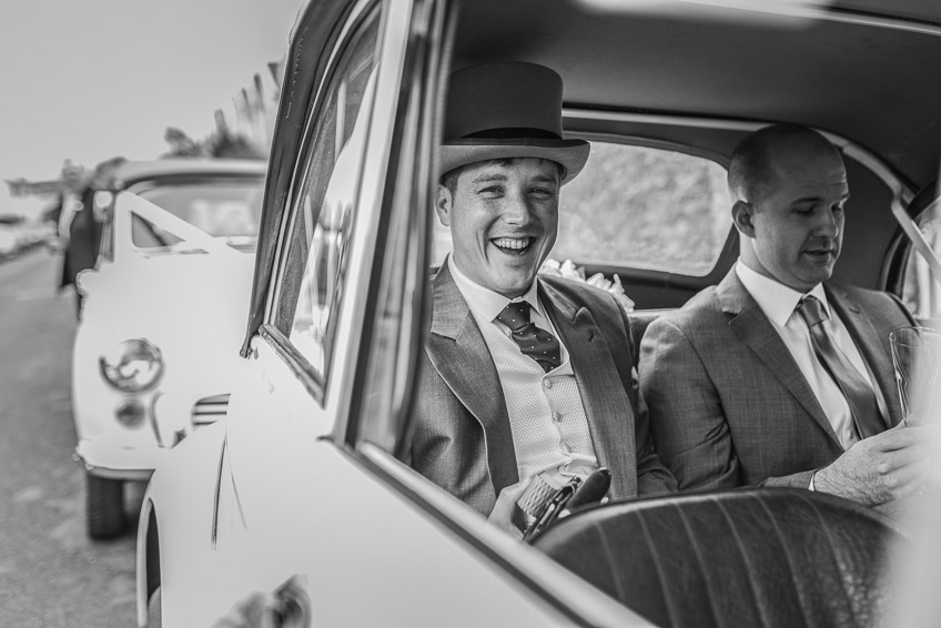
[[[79,275],[72,355],[92,538],[127,529],[125,482],[146,480],[163,454],[225,414],[265,165],[127,162],[95,193],[102,245]]]

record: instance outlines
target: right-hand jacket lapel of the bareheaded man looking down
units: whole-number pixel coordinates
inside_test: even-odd
[[[892,417],[901,417],[902,408],[898,395],[896,373],[891,359],[886,358],[887,355],[892,355],[889,334],[879,335],[879,332],[872,326],[872,321],[846,290],[827,284],[823,287],[827,291],[827,300],[846,325],[857,348],[862,354],[863,361],[872,372],[876,384],[882,391],[882,398],[886,401],[889,411],[889,416],[882,417],[882,419],[886,422],[887,428],[892,427]]]

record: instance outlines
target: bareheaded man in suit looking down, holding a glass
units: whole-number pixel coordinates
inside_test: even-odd
[[[849,196],[839,151],[767,126],[736,149],[729,188],[739,261],[640,345],[654,442],[680,489],[792,486],[869,506],[917,490],[924,433],[894,427],[889,347],[913,321],[893,295],[827,283]]]

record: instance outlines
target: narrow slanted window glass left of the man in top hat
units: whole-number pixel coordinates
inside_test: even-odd
[[[275,321],[326,379],[336,313],[346,283],[347,243],[355,224],[378,39],[378,10],[346,39],[330,74],[294,197],[285,277]]]

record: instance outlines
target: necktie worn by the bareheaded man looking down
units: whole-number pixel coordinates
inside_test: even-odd
[[[821,324],[826,318],[823,306],[817,297],[805,296],[800,300],[797,311],[810,328],[810,343],[817,359],[840,387],[850,405],[860,438],[868,438],[884,431],[886,424],[879,413],[876,394],[843,352],[833,344]]]

